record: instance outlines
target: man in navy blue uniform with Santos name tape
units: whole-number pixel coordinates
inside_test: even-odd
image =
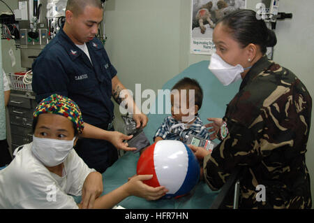
[[[125,136],[112,127],[113,96],[118,104],[126,89],[117,77],[103,44],[95,38],[103,20],[100,0],[68,0],[66,22],[33,62],[33,92],[39,102],[51,94],[73,99],[82,110],[85,138],[80,138],[76,152],[90,167],[103,173],[118,159],[117,149],[128,148]],[[132,104],[130,104],[132,103]],[[127,106],[137,109],[133,99]],[[133,110],[137,127],[145,127],[147,116]],[[111,130],[111,131],[110,131]]]

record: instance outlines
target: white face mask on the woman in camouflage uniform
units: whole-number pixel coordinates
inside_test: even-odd
[[[237,66],[227,64],[216,52],[211,55],[211,63],[208,67],[209,71],[214,73],[216,78],[218,78],[224,86],[241,79],[241,73],[250,68],[251,66],[244,69],[240,64],[237,64]]]

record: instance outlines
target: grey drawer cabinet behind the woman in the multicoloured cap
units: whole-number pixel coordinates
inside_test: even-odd
[[[13,151],[20,145],[33,141],[33,109],[36,106],[33,92],[11,91],[8,110]]]

